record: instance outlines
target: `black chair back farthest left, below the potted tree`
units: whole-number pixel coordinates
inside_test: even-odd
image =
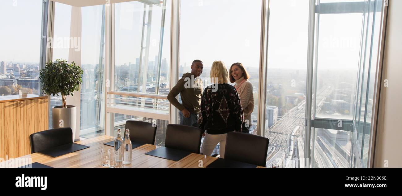
[[[29,136],[31,153],[37,153],[55,146],[72,143],[72,139],[73,131],[70,127],[33,133]]]

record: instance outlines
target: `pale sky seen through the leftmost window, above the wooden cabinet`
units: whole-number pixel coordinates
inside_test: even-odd
[[[0,61],[39,62],[42,0],[0,1]]]

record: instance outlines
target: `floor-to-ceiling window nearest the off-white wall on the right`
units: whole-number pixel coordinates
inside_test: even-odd
[[[382,3],[316,5],[310,165],[367,167]]]

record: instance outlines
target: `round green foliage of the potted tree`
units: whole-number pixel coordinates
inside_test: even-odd
[[[74,96],[74,91],[80,91],[83,73],[75,62],[68,64],[67,60],[59,59],[55,62],[47,62],[45,68],[39,73],[42,93],[52,96],[61,94],[62,97]]]

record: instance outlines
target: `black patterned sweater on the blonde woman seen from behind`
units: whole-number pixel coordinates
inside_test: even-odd
[[[243,109],[236,89],[229,84],[208,86],[201,97],[198,124],[208,134],[242,131]]]

